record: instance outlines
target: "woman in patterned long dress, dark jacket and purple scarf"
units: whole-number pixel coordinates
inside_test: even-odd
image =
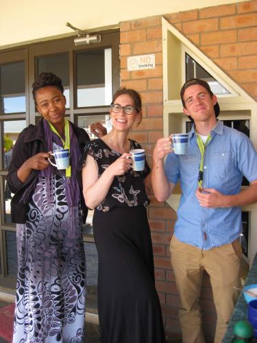
[[[18,279],[13,342],[82,342],[85,255],[81,173],[77,165],[86,131],[64,119],[62,81],[40,73],[33,95],[42,119],[21,132],[8,184],[17,224]],[[50,165],[49,152],[69,148],[71,167]]]

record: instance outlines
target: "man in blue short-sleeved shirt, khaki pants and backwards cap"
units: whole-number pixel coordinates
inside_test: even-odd
[[[195,123],[187,152],[176,155],[170,137],[159,139],[152,184],[159,201],[171,196],[178,180],[182,190],[170,251],[183,342],[205,342],[199,294],[206,270],[217,311],[215,343],[221,343],[238,296],[234,286],[241,286],[241,206],[257,201],[257,154],[245,134],[217,121],[219,104],[207,82],[189,80],[180,95],[183,112]],[[243,176],[250,186],[241,190]]]

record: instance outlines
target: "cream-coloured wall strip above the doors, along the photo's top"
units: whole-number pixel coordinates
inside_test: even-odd
[[[243,0],[0,0],[0,49],[81,29]]]

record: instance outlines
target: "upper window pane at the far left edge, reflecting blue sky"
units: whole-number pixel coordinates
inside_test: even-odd
[[[25,113],[25,62],[0,66],[0,97],[1,114]]]

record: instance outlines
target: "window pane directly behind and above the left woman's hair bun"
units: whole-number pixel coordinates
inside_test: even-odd
[[[66,97],[66,108],[70,107],[70,91],[69,91],[69,55],[56,54],[38,57],[38,75],[45,71],[51,72],[62,79],[64,86],[64,95]]]

